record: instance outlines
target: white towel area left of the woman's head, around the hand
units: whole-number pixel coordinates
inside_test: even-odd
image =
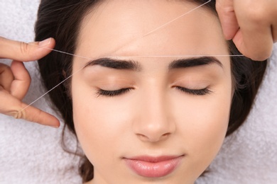
[[[38,4],[38,0],[0,0],[0,35],[31,42]],[[32,83],[24,101],[31,103],[44,91],[36,65],[25,65]],[[54,113],[45,98],[35,106]],[[0,183],[82,183],[77,171],[79,158],[61,147],[62,130],[0,115]]]

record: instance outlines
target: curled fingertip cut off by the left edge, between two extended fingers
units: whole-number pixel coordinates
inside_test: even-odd
[[[6,91],[11,91],[11,83],[13,81],[13,72],[6,64],[0,63],[0,86]]]

